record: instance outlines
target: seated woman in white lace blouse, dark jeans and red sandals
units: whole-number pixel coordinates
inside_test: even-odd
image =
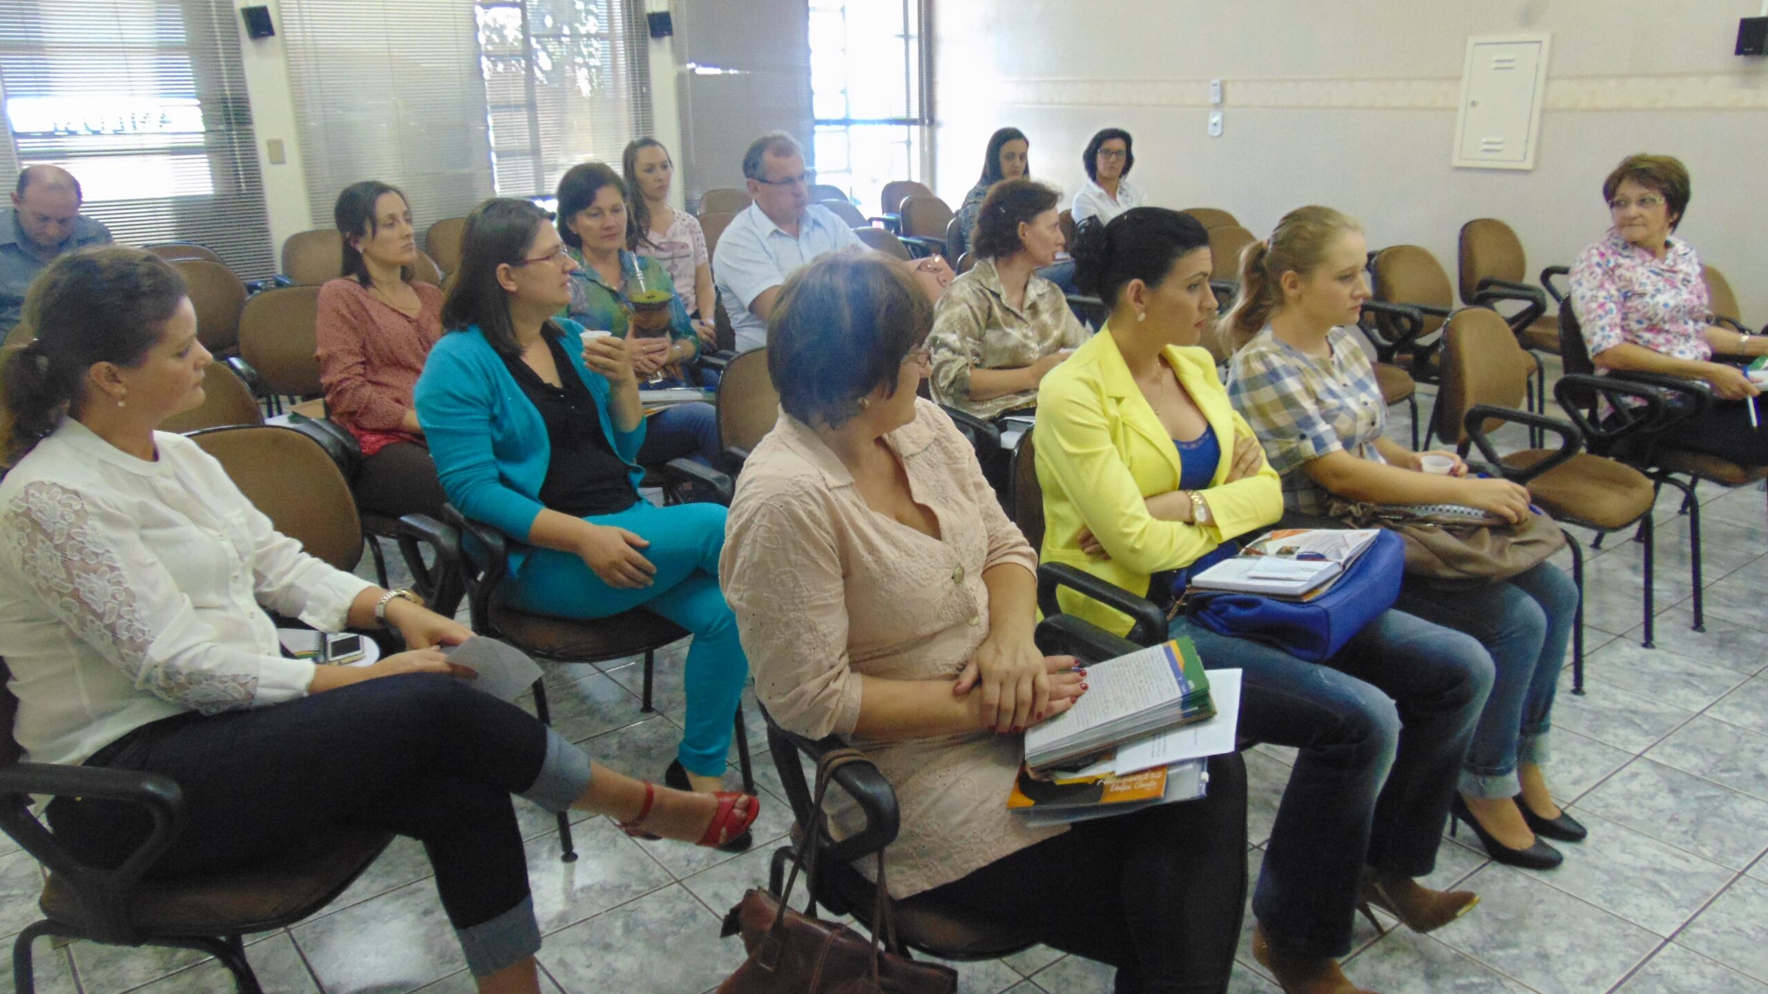
[[[127,248],[64,255],[28,313],[39,338],[7,364],[18,462],[0,483],[11,734],[30,762],[179,784],[187,821],[150,875],[274,863],[345,826],[398,831],[424,844],[477,989],[537,992],[509,794],[704,845],[755,819],[753,798],[658,791],[472,690],[440,649],[465,628],[306,555],[221,463],[156,432],[202,403],[209,364],[170,265]],[[290,660],[260,603],[325,631],[387,624],[410,651]],[[118,865],[154,828],[95,798],[57,798],[46,815],[94,865]]]

